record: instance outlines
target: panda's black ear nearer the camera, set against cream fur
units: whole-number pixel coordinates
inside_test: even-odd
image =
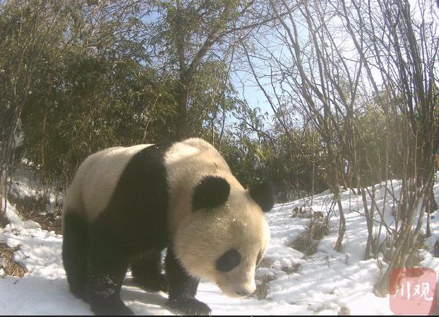
[[[193,191],[193,210],[215,208],[225,203],[230,194],[230,184],[226,179],[209,175],[204,177]]]

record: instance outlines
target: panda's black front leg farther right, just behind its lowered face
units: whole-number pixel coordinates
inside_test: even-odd
[[[195,299],[197,294],[198,279],[187,275],[178,259],[168,246],[165,259],[166,277],[169,288],[168,305],[190,315],[208,315],[211,309],[205,303]]]

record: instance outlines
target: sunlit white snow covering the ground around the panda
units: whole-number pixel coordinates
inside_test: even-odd
[[[436,175],[438,177],[439,175]],[[385,217],[391,223],[392,203],[384,202],[382,184],[377,184],[377,204],[384,206]],[[390,183],[388,183],[390,185]],[[392,181],[398,194],[399,181]],[[16,183],[16,194],[29,194],[26,181]],[[32,192],[32,190],[31,190]],[[439,184],[434,187],[439,201]],[[380,196],[381,195],[381,196]],[[334,251],[337,240],[338,217],[332,217],[333,228],[318,243],[316,253],[305,255],[292,249],[291,242],[303,233],[309,218],[292,218],[294,207],[309,205],[310,199],[276,205],[267,214],[272,241],[261,267],[257,269],[258,283],[265,282],[265,299],[230,299],[207,281],[200,283],[197,298],[212,309],[213,315],[290,315],[290,314],[392,314],[389,296],[377,297],[372,288],[385,263],[380,259],[363,260],[367,229],[361,196],[350,191],[342,192],[346,216],[346,234],[342,253]],[[323,192],[313,197],[312,210],[326,214],[332,195]],[[309,209],[309,207],[307,207]],[[335,212],[337,208],[335,207]],[[378,216],[378,215],[377,215]],[[75,299],[69,292],[61,260],[62,236],[45,231],[32,220],[23,221],[14,205],[8,205],[10,225],[0,229],[0,242],[10,246],[21,244],[14,253],[18,262],[25,264],[23,278],[0,278],[1,315],[84,315],[91,314],[88,304]],[[426,240],[429,251],[439,239],[439,214],[431,219],[432,236]],[[439,259],[425,250],[421,266],[439,272]],[[167,295],[149,293],[132,283],[130,272],[121,291],[121,298],[134,314],[179,314],[168,309]]]

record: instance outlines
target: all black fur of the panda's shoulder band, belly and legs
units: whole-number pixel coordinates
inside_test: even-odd
[[[168,188],[163,157],[171,144],[147,147],[123,171],[108,207],[86,225],[78,213],[65,216],[62,257],[70,288],[95,314],[132,314],[120,299],[123,277],[132,266],[134,281],[166,290],[169,306],[188,314],[209,314],[195,299],[198,280],[189,277],[169,246]],[[168,247],[166,280],[160,253]]]

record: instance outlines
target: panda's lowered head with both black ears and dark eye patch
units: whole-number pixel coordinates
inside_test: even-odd
[[[176,230],[176,256],[190,275],[207,278],[228,296],[256,290],[254,271],[270,240],[263,212],[272,209],[269,183],[244,190],[209,175],[198,182],[192,210]]]

